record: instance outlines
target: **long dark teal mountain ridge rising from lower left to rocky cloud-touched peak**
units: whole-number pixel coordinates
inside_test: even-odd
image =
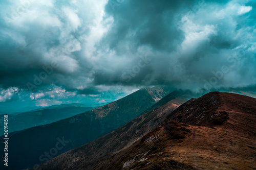
[[[8,153],[12,163],[8,169],[34,166],[97,139],[138,117],[166,94],[161,88],[143,88],[97,109],[10,133]]]

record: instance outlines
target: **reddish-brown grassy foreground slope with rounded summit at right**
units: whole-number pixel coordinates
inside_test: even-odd
[[[220,92],[192,99],[93,169],[255,169],[255,104],[248,96]]]

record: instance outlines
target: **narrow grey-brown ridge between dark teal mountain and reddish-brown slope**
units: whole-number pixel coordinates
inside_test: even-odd
[[[161,125],[166,116],[196,94],[175,90],[151,107],[151,111],[133,119],[125,126],[100,137],[77,149],[64,153],[38,167],[40,169],[93,169],[98,160],[105,160],[112,154],[129,147],[137,140]]]

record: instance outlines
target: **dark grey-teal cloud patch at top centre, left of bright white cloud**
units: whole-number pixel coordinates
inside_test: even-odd
[[[114,7],[112,3],[109,1],[105,8],[113,16],[114,25],[102,44],[122,51],[118,48],[122,43],[133,41],[135,48],[150,45],[154,50],[172,51],[184,39],[174,24],[177,12],[189,10],[194,1],[132,0]]]

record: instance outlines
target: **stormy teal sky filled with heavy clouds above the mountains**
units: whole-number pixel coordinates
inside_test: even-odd
[[[0,106],[104,103],[141,87],[256,84],[256,2],[0,4]]]

